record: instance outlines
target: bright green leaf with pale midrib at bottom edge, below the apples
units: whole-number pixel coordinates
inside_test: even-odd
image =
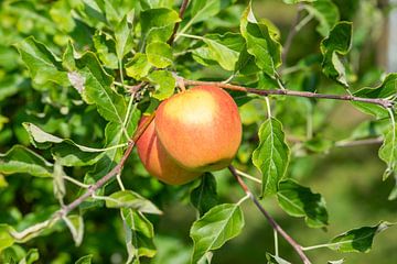
[[[238,205],[224,204],[213,207],[191,228],[190,237],[194,242],[192,263],[197,263],[207,252],[219,249],[237,237],[243,227],[244,216]]]

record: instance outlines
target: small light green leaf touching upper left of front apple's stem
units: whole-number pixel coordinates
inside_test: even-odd
[[[155,70],[149,75],[149,80],[155,84],[155,99],[164,100],[174,94],[175,78],[170,72]]]

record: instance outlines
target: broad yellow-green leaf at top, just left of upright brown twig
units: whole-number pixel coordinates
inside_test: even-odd
[[[173,28],[181,19],[176,11],[167,8],[149,9],[141,12],[142,33],[146,42],[167,42]]]

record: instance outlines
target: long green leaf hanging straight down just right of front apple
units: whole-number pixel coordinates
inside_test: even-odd
[[[282,124],[275,118],[259,129],[259,145],[253,153],[254,165],[262,173],[262,196],[273,195],[279,188],[289,163],[289,147]]]

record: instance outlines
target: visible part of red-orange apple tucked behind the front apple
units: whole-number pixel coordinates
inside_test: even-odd
[[[147,119],[148,117],[143,117],[140,120],[140,125],[144,123]],[[137,141],[137,148],[139,158],[149,174],[165,184],[183,185],[201,175],[201,173],[189,172],[180,167],[169,156],[155,134],[153,121]]]

